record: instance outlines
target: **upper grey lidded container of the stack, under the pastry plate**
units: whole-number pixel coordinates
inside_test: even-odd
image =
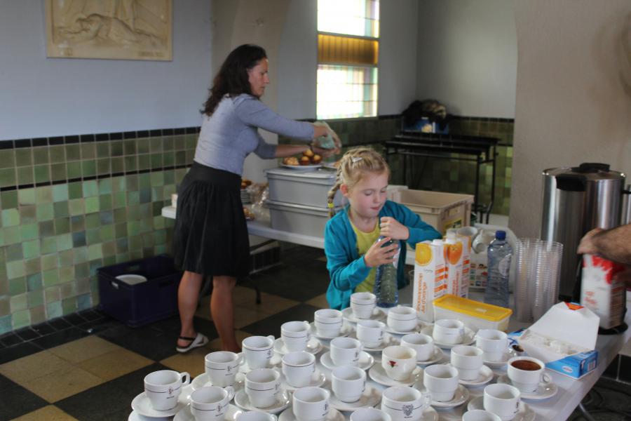
[[[273,168],[265,171],[269,182],[269,199],[276,202],[294,203],[304,206],[327,208],[327,195],[335,184],[335,171],[320,169],[300,171],[290,168]],[[333,199],[334,205],[341,206],[341,192]]]

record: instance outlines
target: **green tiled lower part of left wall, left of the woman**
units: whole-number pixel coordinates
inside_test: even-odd
[[[196,140],[0,150],[0,334],[96,306],[99,267],[168,253],[173,221],[161,208]]]

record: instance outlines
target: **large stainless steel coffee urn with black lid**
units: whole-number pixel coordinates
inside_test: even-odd
[[[620,225],[625,175],[605,163],[543,171],[541,239],[563,244],[559,296],[576,300],[581,263],[576,254],[583,235],[593,228]]]

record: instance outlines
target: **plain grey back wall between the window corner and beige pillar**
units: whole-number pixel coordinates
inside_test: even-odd
[[[416,98],[452,114],[515,116],[515,0],[419,1]]]

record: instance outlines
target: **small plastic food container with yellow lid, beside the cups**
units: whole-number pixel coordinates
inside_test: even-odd
[[[484,302],[445,294],[433,302],[434,320],[456,319],[477,332],[480,329],[497,329],[508,332],[508,321],[513,310]]]

